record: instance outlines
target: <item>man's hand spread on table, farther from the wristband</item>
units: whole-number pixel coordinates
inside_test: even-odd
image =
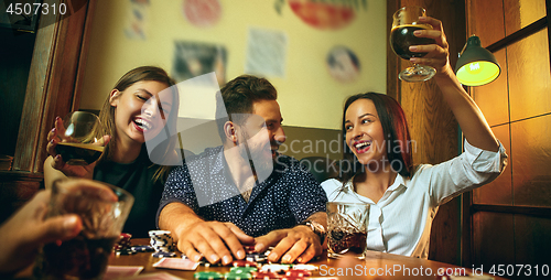
[[[187,258],[199,261],[202,257],[210,263],[230,263],[246,257],[242,245],[252,245],[255,238],[246,235],[233,223],[197,222],[181,230],[177,248]]]

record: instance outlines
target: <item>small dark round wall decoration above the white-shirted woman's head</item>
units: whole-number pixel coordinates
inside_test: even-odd
[[[358,56],[346,46],[337,45],[327,53],[327,68],[332,77],[341,83],[350,83],[359,76]]]

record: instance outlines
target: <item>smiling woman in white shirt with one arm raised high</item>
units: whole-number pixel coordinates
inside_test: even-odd
[[[426,53],[410,61],[436,71],[434,80],[465,136],[465,152],[440,164],[413,166],[400,105],[387,95],[359,94],[346,100],[343,111],[344,159],[350,165],[342,166],[339,180],[327,180],[322,186],[329,202],[370,205],[367,249],[428,258],[439,206],[496,179],[507,154],[450,66],[442,23],[428,17],[419,21],[432,29],[413,34],[435,44],[410,46],[411,52]]]

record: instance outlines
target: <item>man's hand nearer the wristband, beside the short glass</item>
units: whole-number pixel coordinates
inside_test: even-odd
[[[270,246],[274,246],[268,256],[268,260],[272,262],[292,263],[295,260],[307,262],[323,251],[320,237],[304,225],[272,230],[256,238],[255,249],[257,251],[263,252]]]

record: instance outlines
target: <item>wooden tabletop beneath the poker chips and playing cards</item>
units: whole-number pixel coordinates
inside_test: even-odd
[[[149,239],[138,238],[132,239],[132,245],[148,245]],[[177,252],[177,257],[181,254]],[[465,271],[473,273],[472,268],[461,268],[457,266],[443,263],[439,261],[404,257],[399,255],[368,251],[365,260],[354,258],[344,258],[339,260],[327,259],[326,254],[315,261],[309,263],[317,266],[320,269],[314,272],[313,277],[337,277],[342,279],[440,279],[437,273],[447,270]],[[217,271],[225,273],[229,271],[229,267],[204,267],[199,266],[195,271],[181,271],[172,269],[158,269],[152,265],[159,261],[159,258],[152,257],[151,252],[138,252],[130,256],[112,256],[109,260],[110,266],[142,266],[143,270],[140,274],[152,272],[168,272],[184,279],[193,279],[193,274],[197,271]],[[480,271],[482,272],[482,271]],[[496,280],[504,279],[495,277]]]

